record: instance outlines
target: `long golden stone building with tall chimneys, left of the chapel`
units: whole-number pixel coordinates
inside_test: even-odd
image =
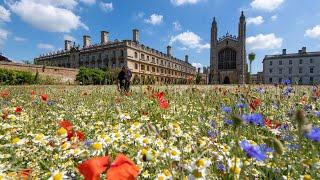
[[[133,78],[154,78],[158,82],[176,83],[195,76],[196,68],[185,60],[172,56],[172,47],[167,53],[140,44],[139,30],[133,30],[132,40],[109,40],[109,33],[101,32],[101,42],[91,45],[90,36],[83,36],[83,47],[65,41],[63,51],[41,55],[34,59],[35,64],[68,68],[121,68],[126,65],[131,69]],[[135,77],[137,76],[137,77]]]

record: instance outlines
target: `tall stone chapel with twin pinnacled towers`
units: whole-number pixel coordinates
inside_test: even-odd
[[[249,75],[246,56],[246,18],[243,12],[238,37],[227,33],[218,39],[218,25],[214,18],[211,26],[210,83],[246,83]]]

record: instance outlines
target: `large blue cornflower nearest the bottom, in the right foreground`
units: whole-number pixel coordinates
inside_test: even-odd
[[[263,161],[267,158],[266,153],[272,152],[272,149],[266,145],[252,145],[247,140],[240,142],[240,147],[246,152],[248,156],[256,159],[257,161]]]

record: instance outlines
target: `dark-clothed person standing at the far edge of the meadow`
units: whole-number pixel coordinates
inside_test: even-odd
[[[118,75],[118,90],[121,92],[129,92],[132,73],[127,66],[123,66]]]

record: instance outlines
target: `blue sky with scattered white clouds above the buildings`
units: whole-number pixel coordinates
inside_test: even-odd
[[[100,41],[131,39],[192,63],[209,65],[211,21],[219,36],[237,35],[240,12],[247,18],[247,52],[257,54],[253,72],[266,54],[320,50],[320,0],[1,0],[0,51],[13,60],[33,60],[63,49],[64,39],[82,45],[84,34]]]

